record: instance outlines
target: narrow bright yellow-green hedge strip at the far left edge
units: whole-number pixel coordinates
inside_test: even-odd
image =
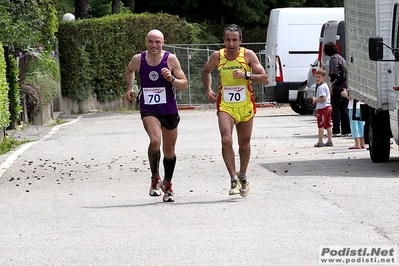
[[[4,48],[0,43],[0,129],[6,129],[10,125],[10,110],[8,100],[8,83],[6,78],[6,60],[4,58]]]

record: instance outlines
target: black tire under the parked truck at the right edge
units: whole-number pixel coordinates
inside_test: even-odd
[[[369,115],[368,142],[370,158],[374,163],[387,162],[391,152],[391,129],[387,111]]]

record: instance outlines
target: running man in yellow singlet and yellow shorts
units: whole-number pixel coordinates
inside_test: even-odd
[[[268,84],[269,77],[258,57],[249,49],[240,47],[242,30],[235,24],[223,32],[225,48],[213,52],[202,69],[202,81],[210,103],[217,101],[217,116],[222,140],[222,156],[230,174],[230,195],[249,194],[247,168],[251,155],[253,117],[256,113],[252,81]],[[220,74],[218,96],[212,91],[211,71],[217,67]],[[240,170],[236,172],[232,133],[236,127]]]

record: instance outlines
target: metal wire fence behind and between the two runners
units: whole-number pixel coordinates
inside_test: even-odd
[[[266,43],[242,43],[245,47],[254,51],[262,66],[265,66],[266,56],[264,54]],[[177,101],[179,105],[201,105],[208,104],[202,83],[201,71],[209,56],[216,50],[223,48],[224,44],[174,44],[165,45],[165,50],[174,53],[180,61],[181,67],[188,79],[188,90],[178,91]],[[213,69],[212,89],[217,91],[219,85],[219,73]],[[263,102],[263,85],[252,83],[256,102]]]

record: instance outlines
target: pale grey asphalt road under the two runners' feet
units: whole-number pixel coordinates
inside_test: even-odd
[[[313,116],[260,108],[242,198],[215,111],[180,115],[174,203],[148,195],[137,112],[14,132],[36,141],[0,156],[0,265],[320,265],[326,246],[397,246],[396,145],[383,164],[351,138],[315,148]]]

